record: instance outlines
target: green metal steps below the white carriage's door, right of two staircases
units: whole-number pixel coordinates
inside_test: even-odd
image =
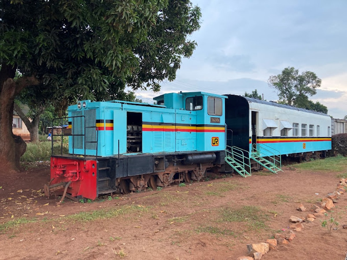
[[[266,156],[260,156],[266,155]],[[262,165],[269,171],[276,173],[282,171],[281,154],[279,151],[264,145],[264,144],[253,144],[251,159]]]

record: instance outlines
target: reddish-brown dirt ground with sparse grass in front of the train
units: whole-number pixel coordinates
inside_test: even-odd
[[[237,259],[246,244],[289,230],[291,215],[335,191],[336,173],[283,167],[251,177],[225,177],[98,199],[92,203],[46,198],[49,166],[0,174],[0,259]],[[299,203],[308,212],[296,210]],[[347,194],[334,214],[340,225],[328,234],[324,217],[262,259],[345,259]],[[238,214],[234,214],[237,212]],[[13,222],[10,222],[13,221]],[[10,225],[8,224],[8,225]]]

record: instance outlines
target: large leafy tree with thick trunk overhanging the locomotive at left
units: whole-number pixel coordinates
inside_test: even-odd
[[[189,0],[0,1],[0,163],[17,170],[25,143],[12,134],[14,99],[49,89],[63,113],[76,99],[174,80],[196,43]],[[22,77],[14,79],[16,70]]]

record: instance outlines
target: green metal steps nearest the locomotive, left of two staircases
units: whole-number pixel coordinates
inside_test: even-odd
[[[236,146],[227,146],[225,162],[242,177],[251,176],[249,152]]]

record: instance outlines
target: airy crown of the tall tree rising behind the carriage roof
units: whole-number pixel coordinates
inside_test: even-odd
[[[277,76],[270,76],[268,84],[277,90],[279,100],[289,105],[298,99],[308,100],[308,96],[317,93],[316,88],[321,86],[322,80],[316,76],[314,72],[299,71],[294,67],[288,67],[282,70]]]

